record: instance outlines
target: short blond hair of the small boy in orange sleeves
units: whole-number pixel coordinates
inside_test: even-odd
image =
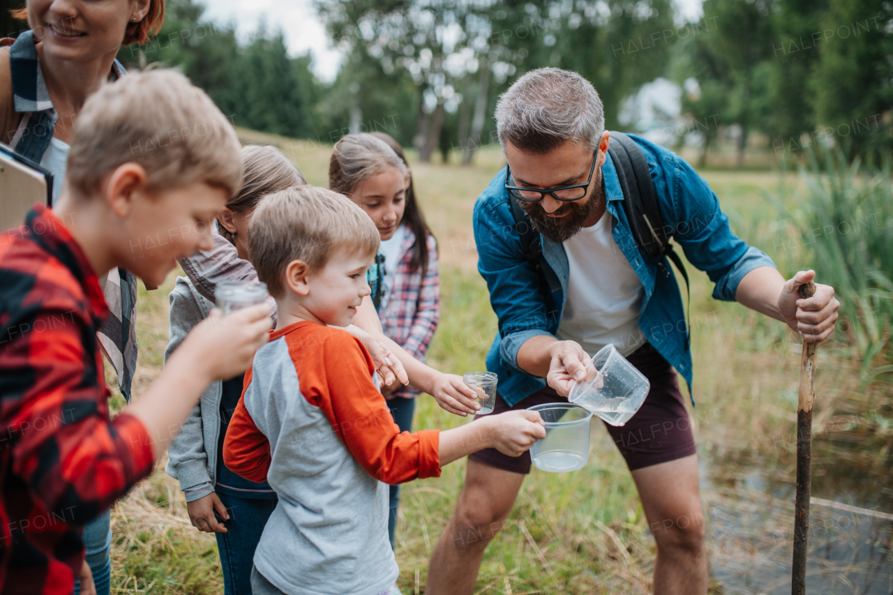
[[[304,261],[313,272],[338,250],[378,252],[379,230],[348,198],[329,189],[297,186],[263,199],[248,224],[248,255],[273,298],[285,295],[288,263]]]

